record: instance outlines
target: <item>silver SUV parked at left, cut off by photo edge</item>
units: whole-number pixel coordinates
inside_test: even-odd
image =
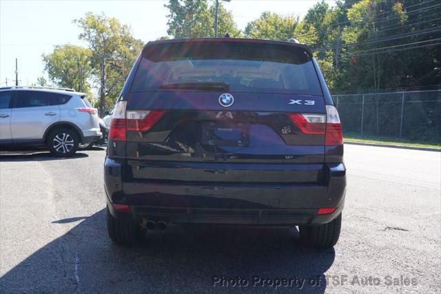
[[[2,149],[46,146],[54,156],[72,156],[79,144],[101,138],[99,117],[86,94],[70,89],[0,88]]]

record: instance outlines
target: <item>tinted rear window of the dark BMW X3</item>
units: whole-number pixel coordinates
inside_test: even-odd
[[[322,95],[311,57],[303,48],[207,41],[147,46],[131,91],[210,88]]]

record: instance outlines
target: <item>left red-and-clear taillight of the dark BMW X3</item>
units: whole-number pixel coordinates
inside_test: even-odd
[[[163,116],[163,110],[128,110],[126,101],[116,103],[110,122],[110,140],[124,141],[126,132],[146,132]]]

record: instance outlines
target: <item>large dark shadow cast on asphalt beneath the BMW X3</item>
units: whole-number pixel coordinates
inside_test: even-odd
[[[0,277],[0,292],[324,293],[334,249],[304,249],[297,239],[295,229],[170,226],[148,232],[141,244],[117,246],[107,237],[103,209]],[[277,286],[283,278],[288,286]]]

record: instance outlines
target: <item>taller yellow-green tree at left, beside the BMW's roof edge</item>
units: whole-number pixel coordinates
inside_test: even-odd
[[[132,69],[143,42],[132,36],[131,28],[105,14],[88,12],[74,20],[79,25],[79,39],[88,43],[91,65],[99,78],[100,110],[111,107],[118,98],[125,78]],[[105,99],[104,99],[105,97]]]

